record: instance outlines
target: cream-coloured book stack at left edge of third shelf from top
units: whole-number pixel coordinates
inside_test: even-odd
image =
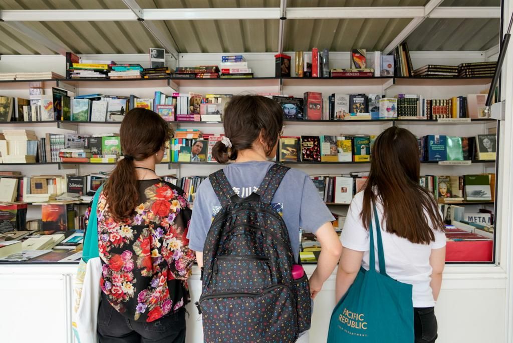
[[[7,155],[2,156],[3,163],[35,163],[38,139],[32,130],[4,130],[7,141]]]

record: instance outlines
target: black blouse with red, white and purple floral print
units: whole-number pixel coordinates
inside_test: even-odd
[[[160,179],[139,181],[139,201],[132,217],[120,222],[111,216],[103,193],[98,198],[100,285],[117,311],[150,322],[190,301],[191,210],[183,191]]]

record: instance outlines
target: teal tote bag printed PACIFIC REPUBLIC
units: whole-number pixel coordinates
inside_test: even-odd
[[[381,228],[374,205],[374,231],[369,228],[369,270],[360,268],[354,283],[331,314],[328,343],[412,343],[413,304],[411,285],[386,274]],[[377,236],[378,263],[374,257],[374,233]]]

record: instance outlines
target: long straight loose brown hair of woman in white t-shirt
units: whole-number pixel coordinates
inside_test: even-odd
[[[369,229],[372,204],[379,196],[387,232],[411,243],[429,244],[435,240],[432,229],[443,230],[442,217],[435,198],[419,185],[419,180],[417,138],[406,129],[386,129],[376,138],[372,148],[370,174],[360,214],[365,228]]]

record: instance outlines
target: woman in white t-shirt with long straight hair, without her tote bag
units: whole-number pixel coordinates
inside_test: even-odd
[[[365,189],[354,196],[340,237],[336,296],[338,301],[347,292],[360,267],[369,269],[369,223],[375,203],[387,274],[412,285],[415,343],[430,343],[438,337],[434,307],[442,284],[445,234],[438,205],[419,179],[417,138],[398,127],[381,133],[372,148]]]

